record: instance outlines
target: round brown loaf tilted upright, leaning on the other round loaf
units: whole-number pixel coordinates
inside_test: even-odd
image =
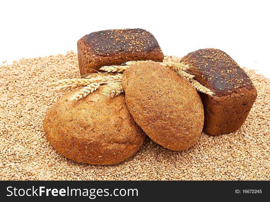
[[[156,63],[133,65],[123,74],[126,103],[136,123],[172,150],[194,145],[203,129],[203,104],[183,77]]]

